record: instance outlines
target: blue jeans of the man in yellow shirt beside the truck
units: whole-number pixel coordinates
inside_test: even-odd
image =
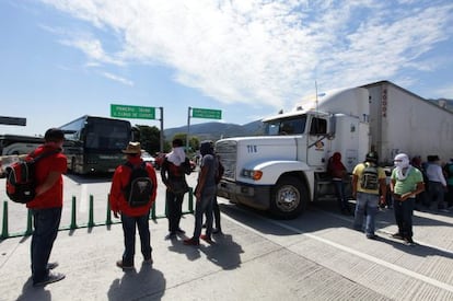
[[[362,230],[363,217],[367,212],[365,234],[374,235],[374,221],[378,212],[379,195],[357,193],[356,217],[353,228]]]

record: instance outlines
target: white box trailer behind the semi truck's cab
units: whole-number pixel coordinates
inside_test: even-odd
[[[453,113],[392,83],[363,85],[370,93],[370,135],[381,161],[395,154],[453,157]]]

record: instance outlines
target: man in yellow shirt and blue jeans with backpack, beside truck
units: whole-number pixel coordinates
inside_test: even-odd
[[[362,231],[367,212],[365,234],[370,240],[376,239],[374,223],[378,206],[380,201],[385,201],[387,192],[385,172],[378,166],[378,153],[371,151],[365,155],[365,161],[357,164],[352,171],[352,196],[356,198],[353,228]]]

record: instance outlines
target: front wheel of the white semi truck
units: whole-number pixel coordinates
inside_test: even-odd
[[[272,189],[270,212],[281,219],[294,219],[306,205],[306,188],[294,176],[281,177]]]

